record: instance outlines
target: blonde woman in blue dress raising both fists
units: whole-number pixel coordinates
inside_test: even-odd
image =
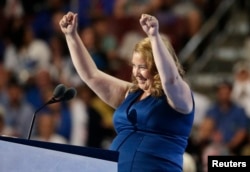
[[[181,172],[194,117],[192,92],[173,48],[159,34],[158,20],[143,14],[140,24],[147,38],[135,46],[129,83],[98,70],[78,36],[77,14],[60,21],[80,77],[116,109],[110,149],[119,151],[118,171]]]

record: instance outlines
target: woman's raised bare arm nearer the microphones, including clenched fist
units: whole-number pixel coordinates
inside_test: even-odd
[[[104,102],[116,108],[124,99],[130,83],[100,71],[77,32],[77,14],[68,12],[59,25],[65,34],[72,62],[83,80]]]

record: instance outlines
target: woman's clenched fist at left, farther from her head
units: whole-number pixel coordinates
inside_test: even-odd
[[[77,13],[68,12],[60,20],[59,25],[65,35],[77,32]]]

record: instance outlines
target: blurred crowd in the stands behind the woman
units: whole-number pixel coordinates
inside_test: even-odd
[[[250,155],[247,0],[1,0],[0,135],[27,138],[33,113],[63,83],[76,98],[39,112],[31,139],[108,149],[114,109],[74,69],[58,24],[68,11],[97,67],[127,81],[133,46],[146,36],[139,18],[158,18],[194,91],[185,169],[206,171],[208,155]]]

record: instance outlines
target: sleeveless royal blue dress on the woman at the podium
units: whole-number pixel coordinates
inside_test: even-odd
[[[194,110],[175,111],[165,95],[136,101],[142,93],[130,93],[114,113],[117,136],[110,149],[119,151],[118,171],[182,172]]]

